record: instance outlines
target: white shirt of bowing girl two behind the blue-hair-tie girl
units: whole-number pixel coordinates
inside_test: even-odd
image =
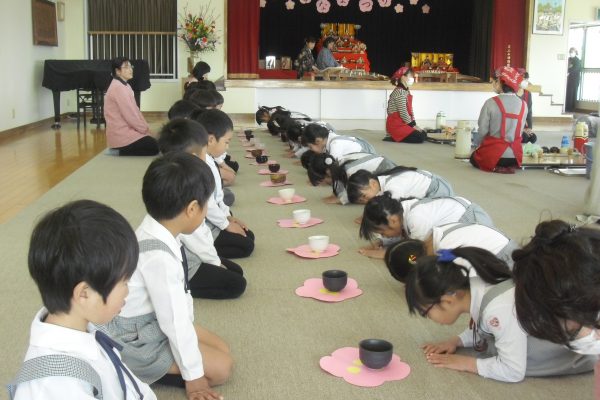
[[[471,204],[467,199],[458,198]],[[402,224],[404,231],[411,239],[425,240],[431,234],[434,226],[458,222],[465,213],[465,207],[451,197],[431,199],[431,201],[412,207],[418,201],[414,199],[402,202],[402,208],[404,208]]]

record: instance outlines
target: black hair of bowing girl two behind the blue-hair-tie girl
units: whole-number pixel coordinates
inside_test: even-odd
[[[388,217],[391,215],[404,215],[404,209],[400,200],[392,198],[390,192],[384,192],[380,196],[375,196],[367,202],[363,211],[363,218],[360,224],[360,237],[367,240],[373,240],[375,233],[382,226],[388,225]]]

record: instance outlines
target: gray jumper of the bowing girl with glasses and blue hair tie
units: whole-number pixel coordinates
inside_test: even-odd
[[[511,279],[492,287],[483,296],[479,307],[479,321],[477,331],[482,339],[487,341],[487,349],[481,354],[484,357],[495,357],[498,355],[495,346],[494,335],[481,329],[481,318],[486,307],[492,300],[507,290],[514,287]],[[594,370],[596,356],[577,354],[565,346],[541,340],[533,336],[527,336],[527,368],[525,376],[559,376],[574,375]]]

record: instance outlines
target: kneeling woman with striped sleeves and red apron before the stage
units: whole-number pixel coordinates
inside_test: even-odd
[[[412,108],[412,94],[409,88],[415,82],[413,70],[401,67],[390,80],[396,86],[388,100],[385,130],[388,133],[383,139],[388,142],[423,143],[427,134],[417,126]]]

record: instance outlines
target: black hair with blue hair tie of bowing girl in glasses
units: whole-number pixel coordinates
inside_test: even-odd
[[[477,276],[488,284],[496,285],[512,277],[506,263],[487,250],[459,247],[451,250],[451,254],[467,260]],[[454,261],[443,260],[439,256],[421,257],[406,277],[406,303],[411,314],[423,314],[427,306],[439,303],[446,294],[470,289],[469,270]]]

